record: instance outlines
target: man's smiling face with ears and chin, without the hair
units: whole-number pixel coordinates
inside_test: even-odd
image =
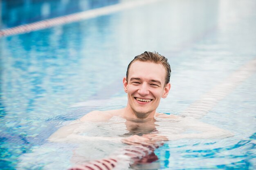
[[[161,64],[136,61],[129,69],[124,91],[128,94],[127,108],[137,118],[153,117],[161,97],[168,95],[171,85],[165,84],[166,70]]]

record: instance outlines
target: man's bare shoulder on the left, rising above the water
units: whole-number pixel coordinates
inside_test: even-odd
[[[84,115],[80,119],[80,121],[93,121],[93,122],[108,121],[113,116],[120,115],[120,114],[121,114],[121,110],[106,110],[106,111],[94,110]]]

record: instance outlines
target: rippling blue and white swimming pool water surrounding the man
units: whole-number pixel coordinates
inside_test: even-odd
[[[46,139],[92,110],[126,106],[122,78],[135,55],[157,51],[168,58],[172,88],[158,111],[177,115],[256,57],[253,0],[80,0],[72,1],[74,6],[68,0],[9,2],[13,1],[1,2],[2,9],[8,9],[2,10],[1,29],[88,9],[132,5],[86,20],[0,37],[3,170],[70,167],[77,145],[52,144]],[[26,9],[31,13],[22,12]],[[255,169],[254,68],[200,119],[235,136],[167,142],[158,151],[163,155],[161,163],[167,162],[162,169]],[[101,134],[102,127],[95,127],[92,135]],[[91,150],[92,159],[99,150],[103,150],[101,157],[108,155],[111,148],[106,145]]]

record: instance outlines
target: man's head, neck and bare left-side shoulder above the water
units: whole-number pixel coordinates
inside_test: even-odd
[[[171,68],[166,57],[147,51],[137,55],[128,65],[123,79],[127,106],[119,110],[93,111],[81,121],[106,121],[114,115],[145,120],[161,115],[156,109],[161,98],[166,98],[170,91],[170,76]]]

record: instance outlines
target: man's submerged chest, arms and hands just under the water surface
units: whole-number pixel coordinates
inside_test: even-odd
[[[72,122],[70,125],[64,126],[56,131],[49,137],[50,141],[62,141],[62,142],[75,142],[83,143],[84,141],[104,140],[119,143],[121,140],[124,143],[129,144],[141,144],[148,141],[146,136],[154,134],[155,138],[159,138],[159,141],[177,140],[183,138],[223,138],[229,137],[233,134],[227,130],[223,130],[216,126],[203,123],[192,117],[182,117],[176,115],[166,115],[164,113],[156,113],[155,117],[138,120],[121,116],[120,113],[123,109],[110,111],[95,111],[92,112],[93,117],[85,116],[82,119]],[[94,119],[95,116],[95,119]],[[103,120],[103,117],[108,117],[107,120]],[[93,121],[91,120],[93,119]],[[108,122],[115,121],[112,124],[112,131],[115,128],[119,128],[120,134],[112,134],[109,130],[107,136],[84,136],[88,131],[92,132],[90,124],[108,124]],[[117,121],[118,120],[118,121]],[[122,124],[123,126],[119,126]],[[115,127],[115,125],[117,127]],[[120,129],[122,128],[122,129]],[[93,135],[93,132],[92,132]],[[135,135],[135,136],[134,136]],[[156,137],[158,136],[158,137]],[[150,137],[150,139],[154,139]]]

